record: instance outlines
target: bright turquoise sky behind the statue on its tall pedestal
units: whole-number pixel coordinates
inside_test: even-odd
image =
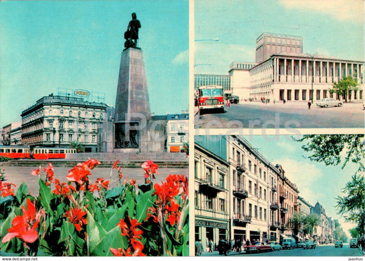
[[[58,88],[104,92],[114,106],[132,12],[142,25],[151,112],[187,110],[187,0],[1,1],[0,127]]]

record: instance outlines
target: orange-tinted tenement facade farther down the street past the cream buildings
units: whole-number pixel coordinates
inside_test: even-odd
[[[288,177],[285,176],[285,171],[281,165],[277,164],[276,168],[279,170],[277,188],[280,206],[278,215],[281,223],[281,236],[293,236],[288,221],[290,221],[294,216],[294,213],[297,212],[299,190],[297,186],[290,182]]]

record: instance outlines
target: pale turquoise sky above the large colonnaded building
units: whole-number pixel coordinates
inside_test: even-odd
[[[231,62],[255,62],[263,32],[303,37],[303,53],[364,60],[362,0],[195,0],[195,73],[228,74]]]

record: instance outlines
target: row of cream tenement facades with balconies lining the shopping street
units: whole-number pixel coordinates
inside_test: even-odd
[[[196,136],[194,161],[196,240],[303,237],[293,234],[290,219],[310,214],[310,205],[299,199],[299,188],[284,167],[272,164],[245,138]],[[329,224],[324,217],[323,224]],[[331,234],[329,228],[318,229],[318,234]]]

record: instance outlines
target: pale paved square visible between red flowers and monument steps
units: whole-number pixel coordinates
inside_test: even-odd
[[[46,166],[42,166],[42,170]],[[1,170],[5,169],[5,182],[11,182],[16,184],[17,189],[23,182],[25,182],[28,186],[29,192],[32,195],[38,195],[38,177],[31,174],[31,172],[36,169],[34,166],[4,166],[1,167]],[[64,168],[64,167],[55,167],[54,173],[55,178],[60,179],[60,182],[67,182],[66,175],[68,171],[72,168]],[[89,176],[91,182],[95,182],[98,177],[103,177],[104,179],[111,180],[110,187],[114,187],[118,185],[118,172],[114,169],[112,173],[112,179],[110,179],[110,170],[111,168],[98,168],[95,167],[91,171],[92,175]],[[128,180],[136,179],[137,184],[144,184],[144,171],[142,168],[134,169],[122,169],[123,172],[123,181],[125,177],[128,177]],[[186,169],[169,169],[169,168],[159,168],[159,175],[156,176],[154,182],[161,182],[166,179],[169,174],[179,174],[188,176],[188,168]],[[45,172],[42,171],[42,177],[45,177]],[[52,185],[53,188],[54,185]]]

